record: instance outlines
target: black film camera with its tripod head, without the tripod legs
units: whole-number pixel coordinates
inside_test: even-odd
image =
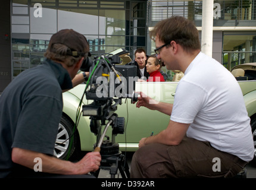
[[[90,116],[90,130],[100,136],[101,129],[98,121],[101,121],[101,125],[105,125],[105,121],[112,119],[111,125],[114,126],[117,123],[115,119],[120,119],[114,112],[117,110],[117,106],[121,105],[121,99],[130,98],[131,102],[136,101],[137,68],[135,65],[120,65],[120,56],[110,53],[86,62],[90,67],[85,94],[86,99],[93,100],[93,102],[83,105],[83,116]],[[85,67],[83,69],[85,71]],[[118,128],[120,129],[121,126],[118,125]],[[113,135],[117,135],[118,131],[123,130],[113,130]]]

